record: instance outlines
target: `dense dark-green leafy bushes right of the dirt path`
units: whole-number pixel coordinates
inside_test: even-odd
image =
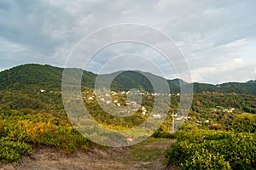
[[[256,134],[193,130],[180,132],[166,151],[169,161],[182,169],[256,168]]]

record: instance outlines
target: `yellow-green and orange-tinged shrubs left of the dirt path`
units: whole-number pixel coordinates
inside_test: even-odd
[[[32,145],[62,148],[67,154],[90,147],[67,119],[32,110],[0,111],[0,157],[2,162],[16,161],[30,154]]]

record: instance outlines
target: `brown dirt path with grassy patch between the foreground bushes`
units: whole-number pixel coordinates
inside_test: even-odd
[[[79,150],[70,156],[55,148],[41,148],[18,163],[0,165],[0,170],[160,170],[166,167],[164,150],[173,142],[173,139],[148,139],[131,147]]]

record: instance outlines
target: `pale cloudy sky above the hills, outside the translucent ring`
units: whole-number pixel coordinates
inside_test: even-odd
[[[0,0],[0,71],[26,63],[64,67],[92,32],[137,23],[172,38],[193,82],[247,82],[256,79],[255,9],[253,0]],[[97,73],[119,55],[130,61],[143,55],[166,71],[166,78],[177,77],[170,69],[175,66],[140,44],[114,44],[96,55],[88,71]],[[129,65],[144,70],[146,63]]]

